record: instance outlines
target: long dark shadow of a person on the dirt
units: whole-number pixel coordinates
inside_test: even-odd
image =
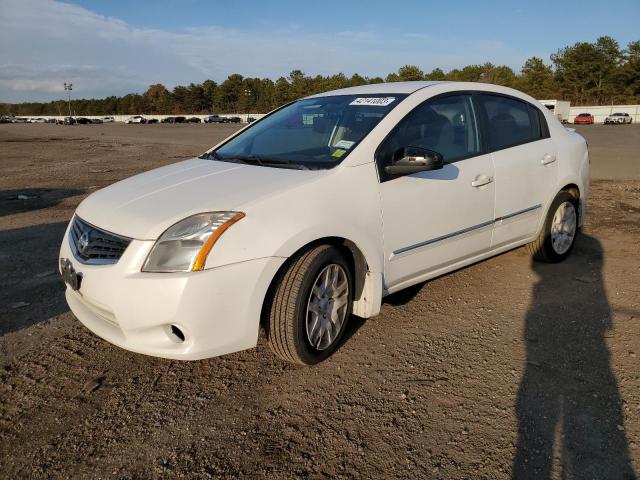
[[[581,235],[563,263],[533,264],[513,478],[636,478],[605,342],[602,262],[600,242]]]

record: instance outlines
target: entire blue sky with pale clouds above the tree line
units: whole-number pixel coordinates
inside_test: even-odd
[[[0,101],[141,92],[230,73],[277,78],[404,64],[425,71],[531,56],[612,35],[640,40],[640,0],[2,0]]]

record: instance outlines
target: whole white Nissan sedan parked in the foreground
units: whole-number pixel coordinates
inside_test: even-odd
[[[521,92],[364,85],[90,195],[60,271],[77,318],[123,348],[201,359],[264,328],[314,364],[385,295],[525,244],[565,259],[588,179],[585,140]]]

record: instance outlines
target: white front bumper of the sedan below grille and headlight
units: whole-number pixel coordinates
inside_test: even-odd
[[[140,269],[152,241],[133,240],[115,265],[85,265],[73,256],[67,235],[60,257],[82,274],[80,290],[66,290],[78,320],[119,347],[178,360],[254,347],[267,289],[286,260],[267,257],[201,272],[144,273]],[[184,341],[171,333],[171,325],[182,331]]]

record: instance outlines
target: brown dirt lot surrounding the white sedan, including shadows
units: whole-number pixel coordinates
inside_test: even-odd
[[[640,127],[592,151],[574,255],[526,249],[386,299],[328,361],[120,350],[56,273],[80,200],[235,126],[0,125],[0,477],[635,478]]]

